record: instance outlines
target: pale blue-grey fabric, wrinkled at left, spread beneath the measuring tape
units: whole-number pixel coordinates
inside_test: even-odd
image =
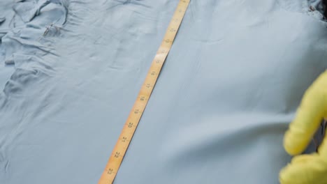
[[[177,3],[0,2],[0,183],[97,183]],[[278,183],[319,7],[191,0],[115,183]]]

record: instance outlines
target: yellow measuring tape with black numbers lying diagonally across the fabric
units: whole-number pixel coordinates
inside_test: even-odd
[[[178,29],[180,28],[180,24],[184,17],[185,11],[187,10],[187,6],[189,6],[189,1],[190,0],[180,0],[177,5],[163,41],[157,51],[156,56],[154,56],[154,60],[152,61],[150,70],[147,74],[147,77],[145,78],[145,82],[143,83],[143,86],[138,93],[138,98],[133,105],[129,117],[127,118],[124,128],[115,145],[115,148],[110,155],[109,161],[105,170],[103,171],[99,184],[111,184],[117,175],[117,171],[120,167],[120,164],[122,164],[122,160],[127,151],[127,148],[129,147],[129,143],[131,142],[136,127],[138,126],[140,118],[144,112],[145,106],[147,105],[147,102],[150,98],[154,84],[157,82],[163,63],[166,60],[171,46],[173,45],[173,41]]]

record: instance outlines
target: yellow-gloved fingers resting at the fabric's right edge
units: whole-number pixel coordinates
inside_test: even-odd
[[[327,184],[327,137],[318,153],[298,155],[310,144],[323,118],[327,118],[327,71],[307,89],[285,134],[286,152],[297,156],[280,172],[281,184]]]

